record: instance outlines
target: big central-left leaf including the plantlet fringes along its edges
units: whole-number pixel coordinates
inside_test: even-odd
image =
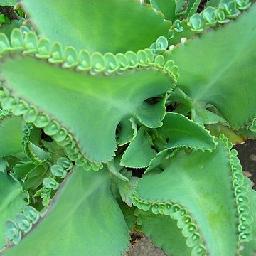
[[[8,39],[2,34],[0,36],[6,44]],[[65,49],[64,57],[60,59],[64,62],[63,67],[67,67],[64,69],[43,61],[48,58],[50,62],[54,58],[53,53],[56,53],[53,50],[47,57],[42,55],[42,49],[47,50],[49,46],[46,39],[37,42],[33,33],[27,33],[23,38],[18,30],[14,30],[11,38],[11,43],[16,45],[7,46],[2,53],[6,55],[18,49],[25,56],[2,59],[3,87],[8,88],[12,95],[2,90],[1,105],[12,109],[14,114],[23,115],[26,122],[43,127],[46,134],[65,146],[69,157],[80,161],[81,165],[85,163],[80,159],[100,163],[114,156],[116,129],[122,120],[134,117],[146,127],[161,126],[166,112],[165,97],[154,105],[145,100],[173,90],[176,84],[173,62],[157,67],[149,50],[139,50],[137,54],[129,51],[122,56],[124,61],[130,61],[127,70],[118,74],[117,70],[100,73],[100,70],[107,68],[107,59],[100,53],[90,56],[82,51],[82,60],[85,55],[91,58],[90,73],[77,72],[73,70],[74,67],[80,68],[80,63],[73,63],[77,54],[75,49]],[[42,47],[34,48],[36,43],[42,43]],[[54,44],[54,47],[57,46]],[[36,54],[36,58],[31,54]],[[112,55],[111,61],[119,59],[118,56]],[[122,68],[120,65],[117,64],[117,67]],[[75,149],[74,143],[77,145]]]

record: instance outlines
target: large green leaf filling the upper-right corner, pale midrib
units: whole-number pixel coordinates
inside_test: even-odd
[[[235,21],[166,53],[180,68],[178,87],[194,102],[216,107],[235,129],[256,115],[255,23],[252,4]]]

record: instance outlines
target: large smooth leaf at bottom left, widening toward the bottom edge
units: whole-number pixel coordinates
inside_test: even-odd
[[[110,190],[106,169],[75,169],[64,181],[46,216],[5,255],[120,255],[129,229]]]

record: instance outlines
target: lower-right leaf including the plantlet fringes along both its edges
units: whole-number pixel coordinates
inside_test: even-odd
[[[135,186],[134,206],[177,220],[192,255],[233,256],[252,238],[251,188],[231,148],[223,136],[213,152],[180,149],[164,171],[145,175]]]

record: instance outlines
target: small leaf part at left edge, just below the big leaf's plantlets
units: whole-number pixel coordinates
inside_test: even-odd
[[[21,117],[0,119],[0,156],[21,153],[23,121]]]

